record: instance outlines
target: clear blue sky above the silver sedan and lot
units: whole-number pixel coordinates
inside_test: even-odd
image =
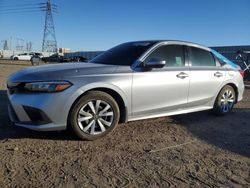
[[[0,49],[12,38],[41,50],[44,12],[1,13],[8,5],[46,0],[0,0]],[[250,0],[51,0],[58,47],[107,50],[128,41],[171,39],[206,46],[250,45]],[[2,9],[1,9],[2,7]]]

